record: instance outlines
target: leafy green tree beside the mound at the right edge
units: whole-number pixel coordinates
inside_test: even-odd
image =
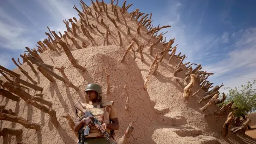
[[[234,111],[235,116],[246,115],[248,112],[253,112],[256,110],[256,89],[253,89],[253,84],[256,84],[256,80],[253,82],[247,82],[247,85],[241,85],[241,88],[230,88],[226,87],[224,90],[228,90],[226,94],[227,99],[224,101],[224,104],[227,104],[230,101],[234,101],[233,107],[238,107]]]

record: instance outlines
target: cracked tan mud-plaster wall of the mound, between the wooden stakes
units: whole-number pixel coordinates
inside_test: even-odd
[[[116,20],[109,4],[108,12],[110,17]],[[244,135],[241,138],[241,136],[231,134],[230,132],[227,138],[222,137],[221,130],[226,116],[216,119],[212,116],[204,117],[202,115],[203,113],[199,108],[204,106],[208,101],[199,104],[197,100],[203,97],[204,92],[201,91],[196,96],[188,98],[188,100],[182,97],[183,86],[170,78],[174,72],[174,66],[179,63],[179,60],[173,58],[171,64],[168,64],[167,61],[170,58],[168,54],[166,54],[160,64],[157,75],[150,77],[148,89],[145,91],[143,89],[144,80],[156,52],[162,51],[163,49],[162,43],[154,47],[153,56],[150,56],[150,43],[147,42],[150,34],[146,34],[147,30],[142,27],[140,30],[141,34],[138,35],[136,32],[138,21],[134,19],[130,20],[130,14],[126,12],[124,16],[130,27],[131,35],[127,35],[127,29],[119,10],[120,22],[116,21],[118,28],[114,27],[114,24],[106,17],[104,12],[101,14],[104,23],[109,26],[110,46],[102,46],[106,38],[106,28],[98,24],[96,19],[91,16],[89,16],[90,24],[98,26],[99,30],[104,32],[104,35],[102,36],[96,29],[87,28],[94,38],[94,44],[92,44],[82,34],[82,31],[80,30],[79,32],[78,30],[78,36],[75,38],[76,41],[82,46],[82,40],[84,40],[87,45],[87,48],[80,50],[77,50],[72,41],[68,39],[74,58],[81,66],[87,69],[86,72],[74,68],[66,54],[63,53],[63,50],[60,55],[52,51],[46,51],[40,54],[40,57],[46,64],[53,65],[50,60],[50,58],[53,58],[56,66],[65,66],[64,72],[68,79],[75,86],[78,86],[78,91],[66,87],[60,80],[52,83],[42,76],[40,72],[38,72],[39,76],[35,76],[26,63],[21,66],[38,82],[38,86],[44,88],[42,92],[44,94],[43,98],[52,102],[52,108],[56,110],[60,126],[58,128],[54,127],[49,121],[48,114],[41,112],[30,104],[25,104],[22,99],[20,102],[14,102],[1,96],[0,105],[12,109],[19,117],[25,118],[32,123],[40,124],[41,129],[38,131],[26,129],[18,123],[2,120],[0,121],[1,128],[22,129],[22,136],[18,137],[18,139],[29,144],[73,144],[76,142],[76,136],[70,129],[67,120],[60,116],[70,114],[73,120],[76,121],[76,114],[73,107],[74,102],[78,100],[85,102],[84,88],[88,83],[96,82],[102,86],[104,101],[114,101],[114,106],[118,110],[120,129],[115,131],[117,140],[122,137],[128,124],[134,122],[135,129],[132,136],[128,138],[128,144],[227,144],[228,141],[234,144],[251,144],[253,142],[252,140],[248,140],[250,138]],[[79,19],[78,16],[76,18]],[[80,20],[78,20],[77,25],[80,26]],[[121,33],[124,48],[118,46],[119,37],[117,30]],[[69,35],[72,36],[70,33]],[[140,44],[144,44],[145,46],[143,50],[144,62],[141,62],[138,52],[136,52],[136,60],[133,60],[133,54],[130,51],[124,62],[121,63],[122,54],[128,48],[132,37],[135,37]],[[156,42],[156,39],[152,38],[151,42]],[[135,50],[136,48],[137,45],[134,44],[133,49]],[[34,67],[36,68],[35,65]],[[104,68],[110,74],[111,88],[109,95],[106,95],[107,84]],[[185,78],[184,73],[186,72],[186,68],[184,66],[182,68],[184,71],[179,72],[177,76]],[[13,71],[21,74],[18,68]],[[58,70],[54,69],[54,72],[61,76]],[[21,78],[30,82],[23,74],[21,74]],[[5,80],[3,77],[0,77],[0,79]],[[127,92],[124,90],[125,85]],[[196,92],[199,88],[200,86],[195,85],[192,88],[192,92]],[[29,93],[34,96],[39,92],[30,89]],[[124,110],[127,96],[130,98],[128,111]],[[218,107],[214,105],[204,113],[208,114],[214,112],[216,109]],[[1,136],[0,142],[16,143],[16,136],[5,138]]]

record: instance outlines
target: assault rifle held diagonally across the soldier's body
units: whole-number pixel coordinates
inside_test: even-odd
[[[110,144],[116,144],[116,141],[110,139],[111,138],[110,134],[107,132],[107,130],[104,128],[104,126],[102,126],[102,124],[98,121],[98,119],[92,114],[92,112],[85,110],[80,102],[76,102],[74,104],[74,107],[84,113],[84,116],[79,118],[79,120],[82,120],[83,118],[86,118],[88,116],[93,117],[92,118],[92,122],[95,124],[95,126],[97,128],[100,128],[100,132],[102,134],[104,134],[104,136],[108,140],[108,142],[110,142]],[[88,126],[86,126],[85,130],[84,130],[84,136],[88,136],[89,135],[89,131],[90,131],[90,128]],[[114,142],[112,142],[112,141],[114,141]]]

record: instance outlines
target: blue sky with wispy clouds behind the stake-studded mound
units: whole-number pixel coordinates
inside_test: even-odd
[[[119,0],[119,6],[123,2]],[[203,70],[256,78],[255,0],[127,0],[130,3],[129,12],[136,8],[152,12],[154,26],[172,26],[164,29],[166,39],[176,38],[177,52],[188,56],[185,62],[202,64]],[[46,26],[63,33],[63,19],[79,18],[73,5],[81,9],[79,0],[2,0],[0,64],[15,68],[11,58],[17,59],[25,46],[36,48],[36,42],[46,38]],[[253,80],[223,74],[209,80],[231,87]]]

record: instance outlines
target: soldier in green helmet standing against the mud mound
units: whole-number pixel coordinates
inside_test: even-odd
[[[83,104],[85,110],[89,110],[92,114],[100,121],[102,126],[110,133],[113,137],[114,130],[119,129],[119,122],[117,118],[116,109],[112,106],[113,102],[102,102],[102,89],[98,84],[92,83],[86,86],[85,92],[87,93],[89,104]],[[82,117],[84,114],[79,111],[78,117]],[[75,131],[83,133],[86,126],[90,128],[89,135],[82,137],[82,144],[108,144],[108,140],[104,138],[104,135],[94,125],[91,117],[77,120],[75,124]],[[85,141],[85,142],[84,142]],[[81,144],[81,143],[80,143]]]

